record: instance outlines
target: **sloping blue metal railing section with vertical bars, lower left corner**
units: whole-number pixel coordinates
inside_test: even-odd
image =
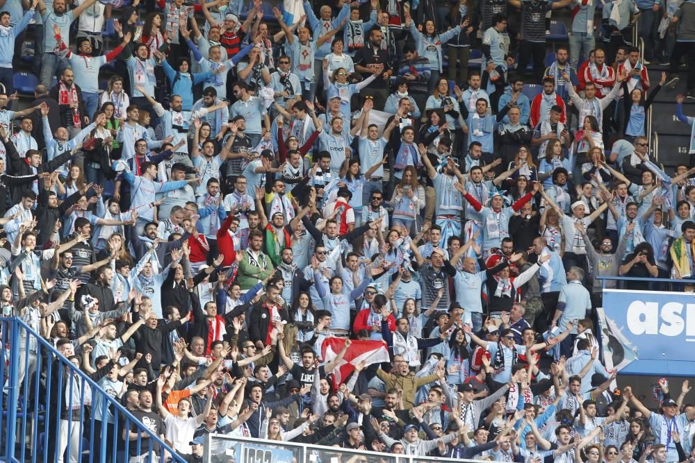
[[[0,460],[122,463],[139,456],[139,462],[186,461],[109,394],[120,391],[111,387],[107,392],[72,363],[75,357],[56,351],[21,319],[0,319],[0,339],[5,346],[0,429],[6,432]],[[104,370],[95,375],[105,377]],[[123,386],[115,381],[115,387]],[[137,437],[124,440],[125,430]]]

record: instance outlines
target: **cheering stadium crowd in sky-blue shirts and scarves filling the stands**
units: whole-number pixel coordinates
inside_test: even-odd
[[[694,1],[0,3],[3,316],[186,460],[215,432],[694,461],[688,383],[642,403],[595,335],[596,277],[695,278],[695,167],[667,174],[646,138],[679,84],[695,131]],[[49,461],[79,461],[85,410],[117,448],[143,437],[27,339],[19,381],[65,389]]]

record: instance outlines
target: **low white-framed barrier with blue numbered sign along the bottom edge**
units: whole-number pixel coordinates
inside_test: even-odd
[[[395,455],[394,453],[352,450],[352,448],[318,446],[297,442],[233,437],[208,434],[205,437],[206,463],[287,462],[287,463],[483,463],[464,458],[427,457],[425,455]],[[271,458],[272,457],[272,458]]]

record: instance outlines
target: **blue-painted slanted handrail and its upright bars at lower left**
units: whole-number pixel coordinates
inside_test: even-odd
[[[39,394],[39,378],[41,374],[41,364],[42,361],[47,361],[47,381],[46,381],[46,394],[43,397],[43,400],[46,401],[46,411],[45,411],[45,419],[44,419],[44,439],[46,441],[43,443],[43,449],[44,449],[44,455],[42,455],[42,462],[47,463],[48,461],[48,455],[49,451],[51,449],[48,448],[48,435],[49,435],[49,421],[50,421],[50,415],[51,413],[54,413],[58,416],[58,419],[60,418],[60,412],[62,410],[62,403],[63,403],[63,393],[65,392],[65,381],[63,380],[64,375],[69,375],[69,380],[70,380],[70,387],[67,388],[67,394],[70,394],[70,401],[68,402],[68,410],[71,410],[68,412],[68,419],[67,419],[67,429],[68,429],[68,436],[70,436],[70,433],[72,431],[72,426],[73,426],[73,420],[72,420],[72,406],[70,406],[70,403],[72,403],[72,398],[73,398],[73,392],[74,392],[74,387],[77,385],[81,385],[80,389],[80,403],[76,404],[79,405],[80,408],[80,422],[79,422],[79,439],[80,439],[80,444],[79,444],[79,453],[81,454],[83,452],[83,441],[82,441],[82,435],[83,435],[83,426],[85,425],[84,419],[85,419],[85,405],[84,405],[84,400],[85,400],[85,387],[84,385],[87,384],[90,386],[92,389],[92,416],[90,417],[90,432],[89,436],[92,437],[92,439],[89,439],[89,444],[90,444],[90,462],[94,459],[94,450],[95,450],[95,437],[98,440],[98,444],[101,447],[100,448],[100,455],[101,455],[101,462],[106,462],[104,459],[104,455],[106,455],[106,446],[107,444],[112,446],[112,457],[111,461],[116,462],[118,461],[117,457],[117,443],[118,443],[118,434],[123,429],[128,429],[130,430],[131,428],[136,428],[138,430],[138,438],[136,439],[136,442],[134,445],[136,445],[136,448],[138,449],[138,455],[144,455],[145,452],[140,452],[141,449],[141,439],[140,434],[142,435],[147,435],[147,443],[143,446],[148,449],[146,452],[148,455],[155,455],[153,451],[153,447],[156,444],[159,444],[160,446],[160,461],[164,462],[166,461],[165,458],[163,458],[163,455],[167,455],[172,458],[172,462],[175,463],[184,463],[186,460],[181,457],[181,455],[177,454],[176,451],[174,451],[170,446],[168,446],[165,441],[160,439],[160,437],[156,434],[153,434],[149,428],[147,428],[140,419],[136,418],[127,410],[123,405],[121,405],[117,399],[109,396],[104,392],[104,390],[101,389],[99,385],[97,385],[97,382],[92,380],[86,373],[81,371],[79,368],[75,367],[72,362],[67,360],[66,357],[64,357],[62,354],[60,354],[54,346],[51,346],[49,342],[47,342],[45,339],[43,339],[40,335],[38,335],[36,332],[34,332],[24,321],[17,317],[12,317],[12,318],[0,318],[0,327],[2,328],[2,338],[3,342],[7,343],[7,334],[8,330],[10,331],[10,339],[9,342],[11,344],[10,347],[10,362],[9,362],[9,371],[7,375],[4,375],[4,368],[0,367],[0,384],[2,384],[2,380],[4,378],[8,378],[8,386],[7,388],[9,389],[9,399],[6,405],[6,409],[3,410],[3,412],[7,413],[7,432],[6,432],[6,445],[5,445],[5,450],[6,450],[6,461],[26,461],[25,459],[25,446],[24,446],[24,441],[21,442],[21,455],[19,458],[15,456],[15,434],[17,431],[17,421],[19,419],[19,415],[22,414],[22,438],[26,435],[26,421],[27,421],[27,416],[28,416],[28,384],[31,382],[31,376],[36,377],[36,390],[35,394],[33,397],[33,416],[35,418],[34,423],[33,423],[33,432],[38,432],[38,414],[39,414],[39,405],[40,405],[40,394]],[[21,346],[20,344],[20,339],[21,333],[24,331],[26,334],[26,342],[24,342],[24,346]],[[24,358],[22,357],[22,353],[28,354],[30,351],[30,346],[31,346],[31,341],[36,342],[36,367],[35,367],[35,375],[29,375],[28,373],[28,365],[29,365],[29,360],[30,360],[30,355],[24,355]],[[22,352],[21,348],[26,349],[26,352]],[[42,350],[44,351],[42,352]],[[46,358],[42,358],[43,355],[46,354]],[[51,380],[53,378],[53,368],[54,368],[54,362],[51,360],[58,360],[60,363],[60,371],[58,371],[58,385],[62,385],[63,387],[58,388],[57,394],[58,394],[58,410],[53,410],[51,412],[50,410],[50,397],[51,397],[51,389],[54,385],[51,384]],[[20,382],[19,380],[19,362],[23,361],[24,362],[24,380]],[[4,362],[3,362],[4,363]],[[20,405],[19,403],[19,389],[23,388],[24,389],[24,394],[23,394],[23,400],[22,400],[22,407],[18,407]],[[101,396],[103,399],[101,402],[101,416],[104,417],[104,425],[101,426],[101,432],[99,436],[95,436],[95,412],[96,412],[96,405],[94,398],[97,396]],[[109,407],[112,407],[111,410],[113,410],[113,433],[107,432],[107,426],[106,426],[106,414],[107,414],[107,409]],[[0,414],[0,420],[1,420],[1,414]],[[122,417],[124,419],[124,423],[122,421],[122,424],[119,425],[119,417]],[[1,421],[0,421],[0,426],[1,426]],[[56,435],[60,435],[60,430],[56,432]],[[127,436],[129,437],[129,436]],[[58,446],[58,440],[60,437],[56,437],[56,442],[55,445],[56,447]],[[109,443],[108,440],[112,439],[113,442]],[[36,448],[40,446],[40,443],[38,441],[39,439],[35,437],[33,439],[33,442],[31,443],[34,447],[34,453],[33,457],[31,459],[32,463],[35,463],[37,460],[37,451]],[[129,447],[130,447],[130,439],[124,439],[124,454],[126,459],[129,459]],[[70,452],[71,452],[71,445],[70,441],[67,442],[67,453],[65,457],[65,461],[70,460]],[[148,461],[154,461],[151,457],[149,457]],[[101,463],[99,462],[99,463]]]

